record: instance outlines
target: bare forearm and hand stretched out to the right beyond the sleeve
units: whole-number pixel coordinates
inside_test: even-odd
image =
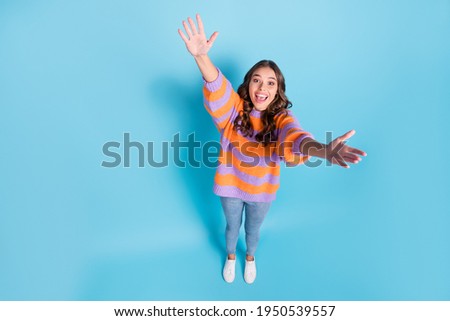
[[[300,152],[305,155],[325,158],[332,164],[348,168],[347,163],[357,164],[361,161],[360,156],[367,156],[364,151],[345,144],[346,140],[354,134],[355,131],[350,130],[327,145],[308,137],[302,141]]]

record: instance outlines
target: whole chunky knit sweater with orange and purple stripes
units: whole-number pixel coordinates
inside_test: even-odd
[[[300,128],[288,111],[287,116],[275,116],[277,141],[264,147],[255,140],[262,129],[261,114],[250,113],[255,135],[244,137],[233,129],[236,116],[243,109],[243,99],[219,70],[213,82],[204,82],[204,104],[220,132],[221,150],[214,178],[216,195],[237,197],[250,202],[271,202],[280,186],[280,162],[288,166],[305,162],[308,156],[300,153],[300,143],[312,137]]]

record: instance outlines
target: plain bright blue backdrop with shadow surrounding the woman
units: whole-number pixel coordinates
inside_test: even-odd
[[[272,59],[305,129],[368,153],[282,168],[251,286],[243,242],[221,277],[213,168],[101,166],[124,133],[218,140],[196,12],[235,88]],[[447,0],[1,1],[0,299],[449,300],[449,34]]]

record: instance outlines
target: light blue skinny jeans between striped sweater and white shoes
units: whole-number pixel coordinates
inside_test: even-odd
[[[270,208],[270,202],[247,202],[240,198],[221,197],[222,208],[227,220],[225,237],[227,253],[235,254],[242,225],[242,216],[245,208],[245,241],[247,255],[254,256],[259,241],[259,230]]]

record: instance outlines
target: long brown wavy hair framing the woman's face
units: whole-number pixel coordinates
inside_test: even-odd
[[[266,110],[261,112],[263,129],[255,135],[257,142],[267,146],[270,143],[275,142],[278,138],[275,128],[275,116],[278,114],[287,115],[287,109],[292,107],[292,103],[288,100],[285,94],[286,83],[284,81],[284,76],[277,64],[272,60],[261,60],[257,62],[245,75],[244,82],[238,88],[238,94],[244,100],[244,108],[234,120],[233,128],[236,131],[240,130],[245,137],[254,135],[255,131],[250,120],[250,112],[253,110],[254,106],[250,99],[248,88],[253,74],[258,68],[261,67],[271,68],[275,72],[278,83],[278,90],[275,99]]]

